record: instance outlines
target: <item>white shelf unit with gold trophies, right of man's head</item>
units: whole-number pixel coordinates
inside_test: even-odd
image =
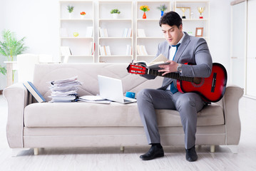
[[[205,7],[203,11],[203,19],[200,19],[200,13],[198,7]],[[209,17],[210,6],[209,1],[175,1],[174,11],[176,11],[180,17],[183,16],[183,11],[180,8],[189,8],[185,11],[186,19],[183,19],[183,31],[195,36],[196,28],[203,28],[203,38],[209,43]]]

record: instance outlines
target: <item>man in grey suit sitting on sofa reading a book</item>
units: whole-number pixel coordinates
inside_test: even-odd
[[[183,32],[183,24],[180,16],[174,11],[165,13],[159,25],[162,28],[166,41],[158,45],[158,56],[162,53],[168,57],[168,65],[160,65],[159,72],[178,72],[180,76],[208,78],[212,71],[212,57],[208,45],[203,38],[189,36]],[[193,63],[194,65],[184,65]],[[155,76],[144,75],[153,79]],[[178,92],[176,80],[164,78],[163,86],[155,89],[141,90],[137,95],[138,111],[144,125],[145,134],[150,150],[140,155],[142,160],[152,160],[155,157],[163,157],[163,147],[160,144],[158,123],[155,109],[178,110],[185,133],[185,158],[195,161],[198,155],[195,152],[195,133],[197,125],[197,113],[205,102],[196,93]]]

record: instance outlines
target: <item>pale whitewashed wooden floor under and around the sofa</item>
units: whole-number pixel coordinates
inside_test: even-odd
[[[145,147],[111,148],[45,148],[39,149],[39,155],[33,150],[21,151],[11,157],[12,150],[6,140],[7,104],[0,95],[0,170],[117,170],[117,171],[158,171],[158,170],[256,170],[256,100],[240,100],[240,118],[242,134],[238,154],[233,154],[225,146],[215,147],[210,153],[210,146],[197,146],[198,161],[185,160],[184,147],[164,147],[165,157],[143,161],[139,156],[148,151]]]

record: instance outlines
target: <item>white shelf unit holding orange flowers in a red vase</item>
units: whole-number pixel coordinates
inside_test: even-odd
[[[158,43],[165,41],[159,26],[161,12],[157,9],[158,6],[163,4],[167,6],[165,12],[171,11],[170,1],[136,1],[135,61],[152,61],[158,51]],[[140,10],[140,6],[144,5],[150,9],[150,11],[145,12],[146,19],[143,19],[144,12]],[[143,29],[145,37],[138,35],[138,29]],[[148,55],[138,54],[138,46],[145,46]]]

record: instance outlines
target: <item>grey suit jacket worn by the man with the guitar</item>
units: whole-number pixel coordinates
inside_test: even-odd
[[[156,56],[162,53],[163,56],[168,57],[169,46],[170,45],[167,41],[159,43],[158,53],[156,54]],[[180,76],[208,78],[210,76],[210,73],[212,72],[212,56],[210,56],[210,51],[205,39],[189,36],[188,33],[185,33],[185,37],[183,38],[183,41],[180,43],[174,61],[182,64],[193,64],[182,65],[182,73],[180,73]],[[150,75],[144,75],[144,77],[148,79],[155,78],[155,76]],[[163,85],[159,89],[165,90],[172,82],[176,86],[175,79],[164,78]]]

